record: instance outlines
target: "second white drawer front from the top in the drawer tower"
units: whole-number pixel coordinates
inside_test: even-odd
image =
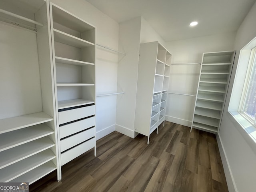
[[[95,117],[90,117],[74,123],[60,126],[60,138],[62,139],[92,126],[95,126]]]

